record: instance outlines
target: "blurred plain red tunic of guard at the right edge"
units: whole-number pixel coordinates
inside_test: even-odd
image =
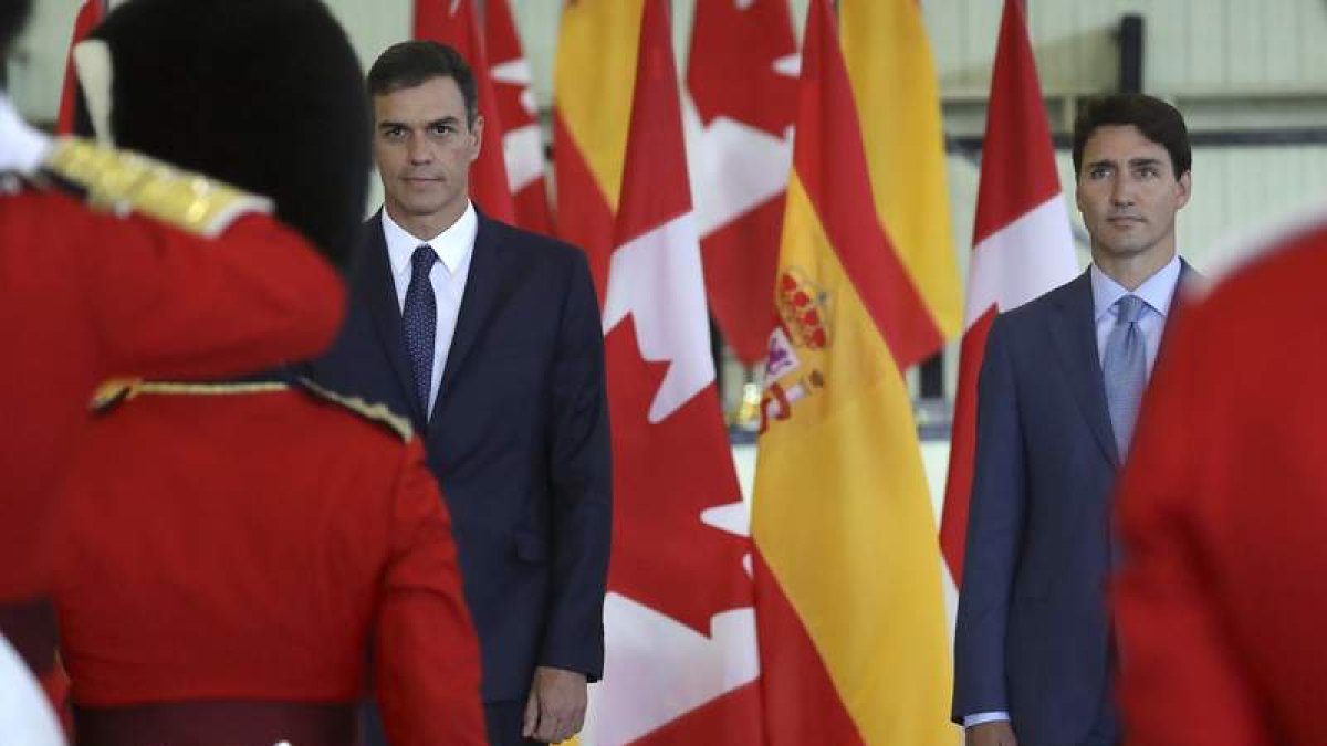
[[[1322,743],[1327,223],[1181,316],[1121,483],[1131,746]]]

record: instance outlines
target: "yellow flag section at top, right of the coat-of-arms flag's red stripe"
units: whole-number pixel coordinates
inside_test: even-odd
[[[945,338],[963,305],[949,222],[936,65],[917,0],[840,0],[876,214]]]

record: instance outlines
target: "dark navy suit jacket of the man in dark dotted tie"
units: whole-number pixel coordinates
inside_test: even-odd
[[[312,373],[409,413],[425,438],[479,633],[484,701],[524,701],[536,665],[597,680],[612,473],[602,332],[584,254],[479,216],[426,419],[411,393],[380,212],[365,223],[345,328]]]

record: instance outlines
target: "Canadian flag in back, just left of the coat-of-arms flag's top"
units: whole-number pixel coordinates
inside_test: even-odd
[[[755,365],[770,332],[798,104],[787,0],[697,0],[686,93],[710,312],[738,357]]]

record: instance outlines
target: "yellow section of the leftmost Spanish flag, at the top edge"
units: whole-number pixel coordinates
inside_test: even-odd
[[[563,11],[556,108],[617,214],[644,0],[575,0]]]

